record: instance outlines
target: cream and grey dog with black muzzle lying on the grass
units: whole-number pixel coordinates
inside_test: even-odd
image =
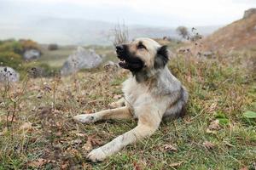
[[[166,65],[169,60],[166,46],[160,46],[150,38],[137,38],[116,46],[116,53],[120,59],[119,66],[131,71],[131,77],[123,82],[124,99],[113,104],[119,107],[74,116],[73,119],[93,123],[135,117],[137,127],[90,151],[87,159],[93,162],[103,161],[127,144],[150,136],[158,129],[163,118],[182,116],[189,96]]]

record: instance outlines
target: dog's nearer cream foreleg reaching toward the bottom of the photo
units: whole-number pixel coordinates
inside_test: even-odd
[[[100,148],[90,151],[87,159],[94,162],[103,161],[108,156],[112,156],[114,153],[117,153],[127,144],[132,144],[138,139],[150,136],[159,127],[161,118],[154,117],[154,119],[150,120],[147,116],[149,115],[138,117],[138,125],[131,131],[120,135]]]

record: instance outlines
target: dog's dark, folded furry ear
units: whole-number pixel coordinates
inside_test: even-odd
[[[155,69],[164,68],[169,60],[168,56],[169,56],[169,52],[166,45],[158,48],[156,56],[154,58],[154,68]]]

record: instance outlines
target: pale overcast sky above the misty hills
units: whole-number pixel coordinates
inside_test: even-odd
[[[125,20],[128,25],[219,26],[241,19],[256,0],[0,0],[1,21],[55,17]]]

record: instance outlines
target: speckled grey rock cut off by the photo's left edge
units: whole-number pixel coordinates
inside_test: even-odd
[[[18,82],[20,74],[8,66],[0,66],[0,82]]]

